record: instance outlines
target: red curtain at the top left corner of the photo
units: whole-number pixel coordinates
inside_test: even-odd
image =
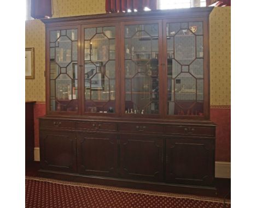
[[[31,16],[34,19],[51,17],[51,0],[31,0]]]

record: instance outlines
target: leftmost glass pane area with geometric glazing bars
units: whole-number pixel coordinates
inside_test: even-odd
[[[50,31],[50,111],[78,111],[77,29]]]

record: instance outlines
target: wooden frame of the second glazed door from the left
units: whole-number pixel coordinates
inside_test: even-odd
[[[97,27],[115,27],[115,112],[114,113],[91,113],[85,112],[85,83],[84,83],[84,35],[86,28],[97,28]],[[118,22],[113,23],[94,23],[94,24],[84,24],[81,25],[81,53],[80,53],[80,71],[81,71],[81,113],[82,115],[94,115],[94,116],[103,116],[103,117],[118,117],[120,112],[120,64],[119,64],[119,38],[120,38],[120,27]],[[109,60],[108,60],[109,62]]]

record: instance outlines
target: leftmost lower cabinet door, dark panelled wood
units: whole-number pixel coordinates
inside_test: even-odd
[[[40,161],[44,169],[76,172],[74,133],[40,131]]]

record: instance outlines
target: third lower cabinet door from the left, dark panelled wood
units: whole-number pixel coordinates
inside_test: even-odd
[[[120,173],[123,178],[162,180],[164,142],[148,136],[120,137]]]

